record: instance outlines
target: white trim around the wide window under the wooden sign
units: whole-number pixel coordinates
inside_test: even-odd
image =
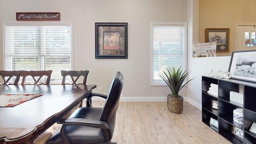
[[[73,23],[72,22],[3,22],[3,70],[6,70],[6,26],[70,26],[71,30],[71,50],[70,50],[70,68],[73,70]],[[55,83],[51,83],[55,84]],[[59,83],[58,83],[59,84]]]

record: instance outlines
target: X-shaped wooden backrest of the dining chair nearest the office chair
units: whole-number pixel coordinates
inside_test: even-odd
[[[65,84],[77,84],[77,80],[78,78],[80,78],[80,76],[84,76],[84,80],[83,80],[83,83],[78,83],[78,84],[83,84],[83,85],[86,85],[86,80],[87,80],[87,76],[88,76],[88,73],[89,73],[89,70],[78,70],[78,71],[75,71],[75,70],[69,70],[69,71],[66,71],[66,70],[61,70],[60,71],[61,73],[61,76],[62,76],[62,85],[65,85]],[[66,83],[66,76],[70,76],[71,80],[72,80],[72,83]],[[76,79],[74,80],[74,78],[76,77]]]

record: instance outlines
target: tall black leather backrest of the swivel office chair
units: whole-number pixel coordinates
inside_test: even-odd
[[[124,78],[121,72],[117,72],[112,84],[110,86],[110,90],[108,92],[108,97],[105,101],[104,107],[102,109],[101,121],[105,121],[108,124],[107,130],[102,130],[105,136],[108,136],[112,139],[115,122],[116,122],[116,111],[119,106],[119,99],[122,92],[124,84]],[[108,138],[106,138],[108,139]]]

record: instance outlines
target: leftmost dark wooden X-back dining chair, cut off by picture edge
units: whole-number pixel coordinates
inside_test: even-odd
[[[0,76],[3,79],[3,84],[0,85],[18,85],[20,80],[20,71],[19,70],[1,70]],[[11,80],[11,81],[10,81]]]

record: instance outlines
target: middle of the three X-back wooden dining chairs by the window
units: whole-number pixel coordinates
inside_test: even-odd
[[[52,70],[21,70],[20,76],[22,76],[21,85],[49,85]],[[30,79],[30,82],[26,82],[26,79]]]

